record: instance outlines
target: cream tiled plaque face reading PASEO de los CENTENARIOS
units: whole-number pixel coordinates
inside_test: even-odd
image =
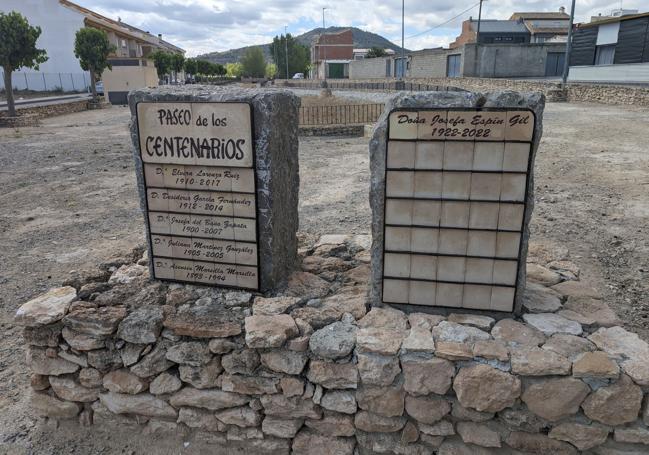
[[[248,103],[137,104],[154,278],[258,290]]]

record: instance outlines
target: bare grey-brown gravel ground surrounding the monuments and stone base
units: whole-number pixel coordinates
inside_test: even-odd
[[[127,109],[114,107],[0,130],[0,454],[201,453],[199,443],[179,438],[153,441],[75,425],[54,432],[27,407],[15,310],[70,271],[143,242],[128,121]],[[537,249],[568,256],[627,328],[647,340],[648,124],[649,109],[549,104],[532,223]],[[367,143],[301,139],[300,227],[308,237],[369,233]]]

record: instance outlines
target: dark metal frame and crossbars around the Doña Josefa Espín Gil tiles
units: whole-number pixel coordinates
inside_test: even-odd
[[[532,114],[532,118],[534,119],[533,123],[533,129],[532,129],[532,138],[529,141],[508,141],[508,140],[501,140],[501,141],[480,141],[476,140],[476,138],[472,138],[471,140],[468,139],[453,139],[453,140],[448,140],[448,139],[391,139],[390,138],[390,116],[394,112],[424,112],[424,111],[443,111],[443,112],[452,112],[452,111],[462,111],[462,112],[511,112],[511,111],[521,111],[521,112],[529,112]],[[383,298],[383,282],[385,279],[389,280],[399,280],[399,281],[424,281],[424,282],[429,282],[429,283],[447,283],[447,284],[457,284],[457,285],[478,285],[478,286],[491,286],[491,287],[507,287],[507,288],[514,288],[514,298],[512,301],[512,309],[511,311],[502,311],[502,310],[489,310],[489,311],[497,311],[499,313],[512,313],[515,311],[516,308],[516,300],[518,299],[518,289],[519,289],[519,281],[520,281],[520,267],[521,267],[521,250],[523,247],[523,237],[524,237],[524,231],[525,231],[525,220],[527,219],[529,215],[529,204],[527,203],[528,198],[529,198],[529,191],[530,191],[530,173],[531,173],[531,167],[532,167],[532,162],[533,162],[533,153],[534,153],[534,143],[536,141],[536,114],[534,113],[533,110],[528,109],[528,108],[517,108],[517,107],[511,107],[511,108],[464,108],[464,107],[448,107],[448,108],[417,108],[417,107],[396,107],[392,109],[388,113],[388,126],[387,126],[387,138],[385,142],[385,171],[384,171],[384,185],[383,185],[383,251],[381,252],[381,287],[380,287],[380,294],[381,294],[381,301],[386,304],[394,304],[394,305],[415,305],[410,302],[388,302],[385,301]],[[505,126],[506,127],[506,126]],[[492,142],[492,143],[524,143],[524,144],[529,144],[530,146],[530,151],[528,154],[528,159],[527,159],[527,171],[525,173],[520,172],[520,171],[473,171],[473,170],[446,170],[446,169],[410,169],[410,168],[389,168],[388,167],[388,146],[389,142],[394,141],[394,142]],[[412,251],[392,251],[392,250],[386,250],[385,247],[385,233],[386,233],[386,228],[387,227],[407,227],[407,228],[412,228],[412,227],[417,227],[413,224],[410,225],[393,225],[390,224],[388,225],[386,223],[386,208],[387,208],[387,173],[388,171],[404,171],[404,172],[468,172],[468,173],[489,173],[489,174],[521,174],[525,175],[525,195],[523,197],[523,201],[493,201],[493,200],[478,200],[478,199],[445,199],[445,198],[415,198],[415,197],[390,197],[390,199],[407,199],[411,201],[418,201],[418,200],[433,200],[433,201],[450,201],[450,202],[492,202],[492,203],[506,203],[506,204],[522,204],[524,206],[523,209],[523,218],[521,220],[521,228],[518,231],[512,231],[512,230],[503,230],[503,229],[471,229],[469,227],[467,228],[461,228],[461,227],[456,227],[456,228],[447,228],[447,227],[442,227],[442,226],[421,226],[425,228],[430,228],[430,229],[458,229],[458,230],[465,230],[465,231],[489,231],[489,232],[508,232],[508,233],[518,233],[520,234],[520,239],[519,239],[519,244],[518,244],[518,255],[516,259],[512,258],[497,258],[497,257],[483,257],[483,256],[469,256],[469,255],[454,255],[454,254],[441,254],[441,253],[417,253],[417,252],[412,252]],[[502,260],[502,261],[516,261],[516,280],[513,285],[505,285],[505,284],[495,284],[495,283],[473,283],[473,282],[467,282],[467,281],[462,281],[462,282],[451,282],[451,281],[444,281],[444,280],[428,280],[428,279],[423,279],[423,278],[400,278],[400,277],[390,277],[390,276],[385,276],[385,254],[409,254],[409,255],[419,255],[419,256],[443,256],[443,257],[462,257],[462,258],[476,258],[476,259],[493,259],[493,260]],[[466,276],[465,276],[466,280]],[[416,306],[422,306],[422,305],[416,305]],[[464,308],[464,307],[448,307],[448,306],[443,306],[443,305],[432,305],[430,306],[431,308],[453,308],[453,309],[458,309],[458,308]],[[466,308],[470,309],[470,308]]]

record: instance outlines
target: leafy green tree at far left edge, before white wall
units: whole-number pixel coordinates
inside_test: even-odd
[[[32,27],[20,13],[0,12],[0,66],[4,70],[7,108],[10,117],[16,116],[11,73],[20,68],[38,69],[47,61],[45,49],[37,49],[36,41],[41,35],[40,27]]]

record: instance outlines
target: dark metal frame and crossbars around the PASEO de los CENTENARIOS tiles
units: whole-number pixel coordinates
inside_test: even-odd
[[[252,242],[250,240],[241,240],[241,243],[255,243],[257,246],[257,264],[252,266],[252,265],[246,265],[246,264],[232,264],[232,263],[224,263],[224,262],[217,262],[217,261],[204,261],[204,260],[195,260],[195,259],[185,259],[185,258],[168,258],[164,256],[155,256],[157,258],[161,259],[177,259],[179,261],[191,261],[191,262],[204,262],[204,263],[209,263],[209,264],[222,264],[224,266],[242,266],[242,267],[255,267],[257,269],[257,287],[252,288],[252,287],[243,287],[243,286],[232,286],[232,285],[220,285],[220,284],[209,284],[209,283],[203,283],[203,282],[198,282],[198,281],[189,281],[189,280],[177,280],[177,279],[170,279],[170,278],[157,278],[155,276],[155,264],[154,264],[154,256],[153,256],[153,245],[152,245],[152,240],[151,240],[151,235],[167,235],[167,234],[156,234],[151,232],[151,225],[149,223],[149,213],[151,210],[149,210],[149,200],[147,197],[147,190],[149,188],[161,188],[161,187],[149,187],[147,182],[146,182],[146,173],[144,172],[144,165],[146,164],[144,160],[142,159],[142,137],[140,135],[140,118],[138,114],[138,106],[142,104],[160,104],[160,103],[170,103],[170,102],[178,102],[178,103],[183,103],[183,104],[246,104],[248,105],[249,108],[249,113],[250,113],[250,141],[251,141],[251,151],[252,151],[252,166],[251,167],[241,167],[241,169],[252,169],[253,171],[253,181],[254,181],[254,193],[252,192],[244,192],[244,191],[236,191],[236,192],[229,192],[229,193],[236,193],[236,194],[254,194],[255,196],[255,242]],[[170,283],[191,283],[195,284],[198,286],[214,286],[214,287],[219,287],[219,288],[225,288],[225,289],[244,289],[244,290],[249,290],[249,291],[259,291],[261,289],[261,254],[259,251],[259,194],[257,194],[257,143],[255,140],[255,118],[254,118],[254,108],[252,103],[249,102],[240,102],[240,101],[140,101],[135,105],[135,115],[136,115],[136,128],[137,128],[137,136],[138,136],[138,146],[139,146],[139,152],[140,152],[140,172],[142,173],[142,182],[144,183],[144,204],[146,208],[146,213],[145,213],[145,223],[147,227],[147,243],[149,245],[149,263],[150,263],[150,270],[153,274],[153,279],[154,280],[160,280],[160,281],[167,281]],[[174,164],[174,163],[160,163],[160,164]],[[207,167],[214,167],[214,168],[226,168],[226,167],[234,167],[234,166],[207,166]],[[166,188],[163,187],[163,189],[181,189],[181,188]],[[215,191],[215,190],[190,190],[190,191],[205,191],[205,192],[210,192],[210,193],[228,193],[227,191]],[[161,212],[161,213],[175,213],[175,214],[181,214],[181,215],[191,215],[191,213],[186,213],[186,212],[175,212],[175,211],[161,211],[161,210],[154,210],[155,212]],[[243,219],[252,219],[250,217],[224,217],[222,215],[209,215],[209,214],[196,214],[200,216],[217,216],[220,218],[243,218]],[[184,238],[194,238],[194,236],[183,236],[183,235],[171,235],[168,234],[171,237],[184,237]],[[238,240],[229,240],[229,239],[214,239],[214,238],[209,238],[209,237],[196,237],[204,240],[222,240],[222,241],[232,241],[232,242],[239,242]]]

